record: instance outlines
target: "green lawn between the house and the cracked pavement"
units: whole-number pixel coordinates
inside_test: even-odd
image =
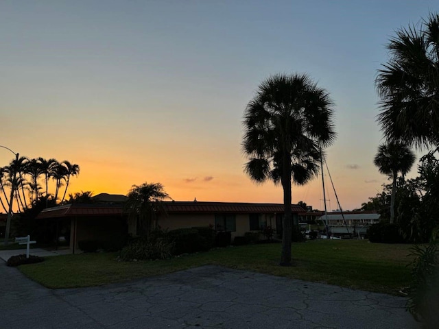
[[[327,240],[293,243],[294,266],[278,266],[281,244],[244,245],[213,249],[167,260],[120,262],[117,253],[47,257],[43,263],[22,265],[29,278],[52,289],[89,287],[165,273],[219,265],[313,282],[399,295],[410,281],[407,264],[411,245]]]

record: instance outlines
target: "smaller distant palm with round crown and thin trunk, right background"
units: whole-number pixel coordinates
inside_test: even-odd
[[[392,195],[390,197],[390,223],[395,218],[396,180],[398,173],[407,174],[414,164],[416,157],[407,145],[400,142],[390,142],[379,145],[373,162],[380,173],[392,178]]]

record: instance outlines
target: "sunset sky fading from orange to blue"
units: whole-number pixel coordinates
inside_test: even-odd
[[[437,0],[2,0],[0,145],[79,164],[69,193],[161,182],[178,201],[281,203],[280,186],[244,174],[241,122],[270,74],[308,73],[335,102],[327,163],[340,202],[359,208],[387,182],[372,162],[385,45],[438,10]],[[0,166],[12,157],[0,149]],[[320,178],[292,195],[323,208]]]

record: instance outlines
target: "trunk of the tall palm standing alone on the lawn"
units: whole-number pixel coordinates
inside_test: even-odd
[[[282,221],[282,253],[281,266],[291,266],[291,242],[292,242],[292,212],[291,212],[291,160],[289,152],[283,154],[283,207],[284,217]]]

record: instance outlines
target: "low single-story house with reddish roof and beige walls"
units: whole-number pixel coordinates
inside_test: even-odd
[[[156,225],[164,230],[177,228],[211,227],[229,231],[232,238],[246,232],[259,231],[271,226],[277,234],[282,232],[283,204],[254,204],[237,202],[163,202],[163,211]],[[294,223],[302,208],[292,205]],[[123,204],[67,204],[47,208],[37,220],[56,224],[56,236],[69,234],[70,249],[78,252],[81,240],[117,239],[118,234],[137,235],[137,221],[123,213]],[[64,230],[64,232],[62,232]],[[58,240],[57,240],[58,241]]]

